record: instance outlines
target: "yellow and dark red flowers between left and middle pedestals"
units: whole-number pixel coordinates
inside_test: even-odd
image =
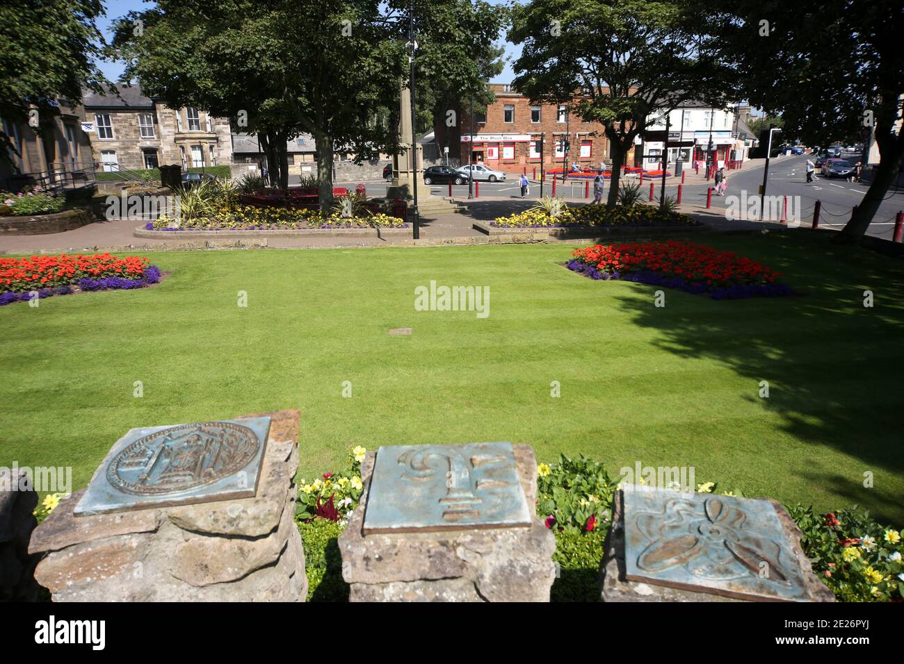
[[[345,470],[325,472],[314,482],[304,480],[298,485],[296,519],[310,521],[319,517],[345,524],[352,510],[358,506],[364,485],[361,481],[361,462],[367,450],[355,446],[348,455]]]

